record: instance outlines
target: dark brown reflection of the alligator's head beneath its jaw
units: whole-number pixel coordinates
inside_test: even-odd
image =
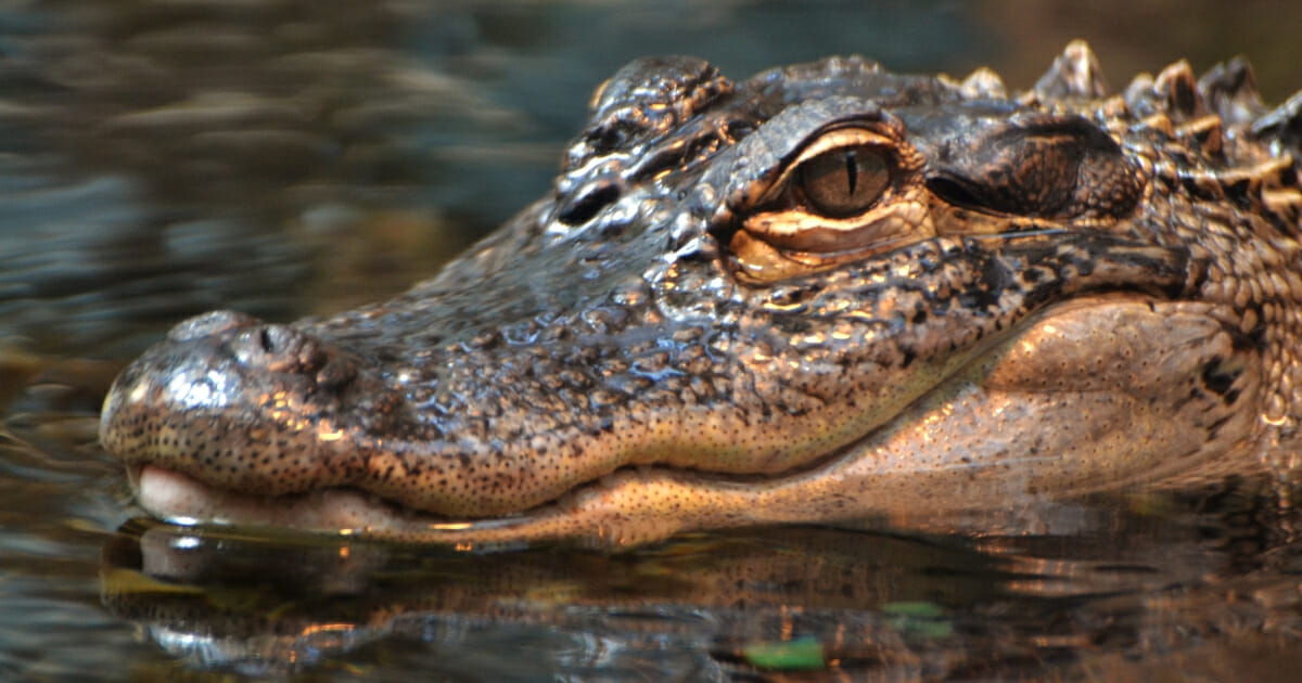
[[[405,669],[493,680],[698,680],[786,667],[999,678],[1302,628],[1295,578],[1259,566],[1273,558],[1297,571],[1302,557],[1292,539],[1256,537],[1255,526],[1293,513],[1240,490],[1167,505],[1069,537],[806,527],[616,556],[133,522],[104,550],[103,597],[167,652],[251,675],[329,669],[345,656],[370,675],[398,650]],[[790,654],[799,648],[809,656]]]

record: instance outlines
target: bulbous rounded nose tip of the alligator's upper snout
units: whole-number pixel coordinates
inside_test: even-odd
[[[296,493],[323,474],[353,476],[354,458],[335,441],[357,397],[379,407],[376,384],[310,333],[217,311],[178,324],[122,372],[100,435],[134,475],[152,464],[238,490]],[[387,407],[376,412],[392,415]]]

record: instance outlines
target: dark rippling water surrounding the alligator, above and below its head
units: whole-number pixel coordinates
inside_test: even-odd
[[[1292,679],[1298,519],[1247,484],[1094,501],[1057,536],[477,556],[159,526],[95,444],[169,323],[398,291],[544,193],[635,56],[743,77],[865,52],[1026,86],[1083,35],[1115,86],[1236,53],[1268,100],[1302,86],[1302,10],[1105,5],[0,8],[0,679]]]

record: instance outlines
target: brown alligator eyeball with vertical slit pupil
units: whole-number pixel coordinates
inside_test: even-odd
[[[823,152],[799,168],[801,190],[810,208],[842,219],[862,213],[891,183],[891,164],[874,147],[846,147]]]

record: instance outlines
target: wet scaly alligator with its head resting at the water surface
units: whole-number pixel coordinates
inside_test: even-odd
[[[1022,92],[642,59],[432,280],[186,320],[100,440],[167,520],[470,546],[1282,477],[1299,141],[1302,94],[1268,109],[1241,59],[1115,95],[1083,42]]]

